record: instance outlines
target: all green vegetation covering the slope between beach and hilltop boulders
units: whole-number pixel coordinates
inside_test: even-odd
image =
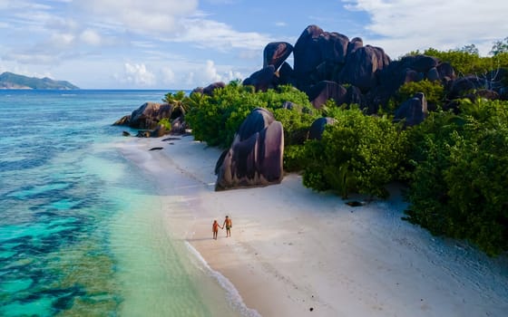
[[[491,57],[480,57],[474,45],[424,53],[450,62],[459,75],[483,76],[508,68],[507,41]],[[266,108],[284,127],[284,169],[302,173],[306,187],[341,197],[387,197],[386,185],[402,181],[409,202],[406,220],[435,235],[469,241],[488,255],[508,251],[508,101],[458,100],[454,112],[444,111],[446,87],[422,81],[401,86],[389,105],[415,92],[424,92],[435,107],[423,123],[406,130],[389,115],[366,116],[355,105],[328,101],[313,109],[304,92],[289,86],[255,92],[237,81],[210,96],[178,99],[194,138],[210,146],[228,148],[249,112]],[[286,101],[294,104],[286,109]],[[389,105],[385,113],[393,113]],[[336,123],[320,140],[308,140],[312,122],[325,116]]]

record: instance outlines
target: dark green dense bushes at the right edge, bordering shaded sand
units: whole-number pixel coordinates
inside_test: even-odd
[[[508,102],[463,101],[460,115],[432,113],[409,135],[408,220],[489,255],[508,250]]]

